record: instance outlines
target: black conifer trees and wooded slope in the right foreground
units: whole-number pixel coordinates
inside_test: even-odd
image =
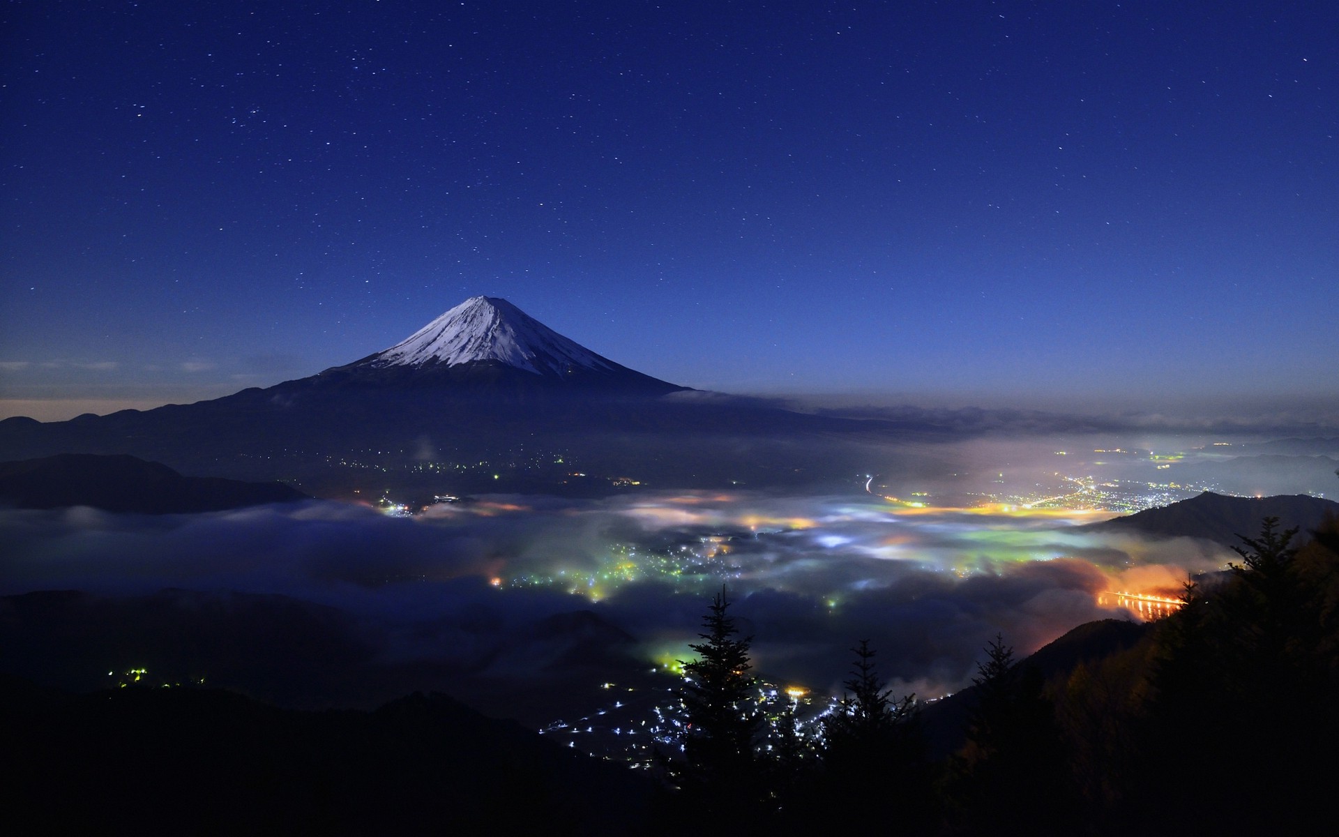
[[[932,758],[927,714],[853,650],[846,694],[802,738],[749,700],[749,643],[722,593],[686,666],[676,787],[648,832],[814,834],[1303,833],[1339,778],[1339,521],[1304,545],[1267,518],[1240,564],[1186,583],[1133,644],[1043,675],[984,648],[961,742]],[[844,829],[845,830],[845,829]]]

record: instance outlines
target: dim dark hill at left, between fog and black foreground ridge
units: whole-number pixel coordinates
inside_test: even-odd
[[[40,591],[0,597],[0,671],[83,692],[146,668],[285,706],[368,706],[387,695],[370,695],[376,648],[358,628],[344,611],[279,595]]]

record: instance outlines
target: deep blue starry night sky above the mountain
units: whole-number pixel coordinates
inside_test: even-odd
[[[699,388],[1339,399],[1339,4],[0,9],[0,415],[502,296]]]

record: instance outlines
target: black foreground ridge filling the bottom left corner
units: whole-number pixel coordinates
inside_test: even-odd
[[[23,834],[628,834],[649,779],[441,694],[299,711],[221,690],[0,676]]]

